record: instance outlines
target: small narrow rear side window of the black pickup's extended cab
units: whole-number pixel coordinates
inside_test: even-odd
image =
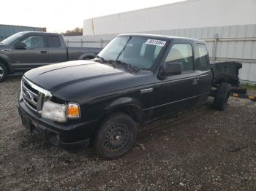
[[[201,71],[206,71],[210,69],[210,61],[208,56],[208,51],[206,44],[197,44],[197,68]]]

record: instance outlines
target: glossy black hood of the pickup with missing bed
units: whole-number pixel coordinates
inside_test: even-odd
[[[136,85],[136,75],[94,61],[69,61],[27,71],[24,76],[36,85],[67,101],[102,95]],[[129,79],[129,80],[128,80]],[[143,80],[135,80],[137,83]]]

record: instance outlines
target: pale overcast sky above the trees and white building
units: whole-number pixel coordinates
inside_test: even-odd
[[[0,24],[46,27],[61,32],[83,27],[83,20],[183,0],[4,0]]]

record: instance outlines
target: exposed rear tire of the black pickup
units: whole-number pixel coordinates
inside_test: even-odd
[[[223,82],[217,89],[215,94],[213,107],[217,111],[222,111],[227,106],[227,101],[230,96],[231,85]]]

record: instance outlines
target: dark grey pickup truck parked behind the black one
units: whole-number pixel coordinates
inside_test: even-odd
[[[7,74],[20,73],[50,63],[94,58],[101,48],[66,47],[61,34],[20,32],[0,42],[0,82]]]

